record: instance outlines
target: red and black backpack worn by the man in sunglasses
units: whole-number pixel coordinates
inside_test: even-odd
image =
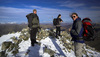
[[[89,18],[84,18],[82,20],[84,31],[83,31],[83,39],[85,41],[93,41],[94,40],[94,28],[92,26],[92,21]]]

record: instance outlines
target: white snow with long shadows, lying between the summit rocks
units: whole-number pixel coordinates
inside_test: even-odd
[[[0,37],[0,50],[1,50],[1,44],[4,41],[12,41],[11,37],[19,37],[20,32],[14,33],[14,34],[7,34]],[[50,57],[48,53],[44,52],[44,48],[47,47],[48,49],[51,49],[55,51],[54,57],[75,57],[74,52],[71,50],[71,52],[68,52],[67,49],[63,46],[63,44],[60,44],[59,39],[47,37],[45,39],[42,39],[40,41],[41,45],[35,44],[34,47],[31,46],[30,39],[27,41],[22,41],[19,44],[19,53],[17,54],[17,57]],[[65,48],[65,50],[63,50]],[[30,52],[26,55],[26,52],[30,50]],[[100,57],[100,53],[96,51],[92,51],[90,49],[86,49],[87,51],[92,52],[92,54],[87,53],[90,57],[93,55],[94,57]],[[11,54],[8,54],[9,57],[12,57]],[[84,57],[86,57],[84,55]]]

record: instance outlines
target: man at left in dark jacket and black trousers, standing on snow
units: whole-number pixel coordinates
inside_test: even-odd
[[[37,15],[37,10],[34,9],[33,13],[26,15],[26,17],[28,19],[28,27],[30,29],[31,46],[34,46],[35,43],[38,43],[36,41],[36,34],[37,34],[38,30],[40,29],[39,17]]]

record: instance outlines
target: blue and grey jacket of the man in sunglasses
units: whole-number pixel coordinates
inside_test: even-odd
[[[75,21],[73,21],[72,29],[70,31],[72,41],[84,43],[83,30],[81,18],[77,18]]]

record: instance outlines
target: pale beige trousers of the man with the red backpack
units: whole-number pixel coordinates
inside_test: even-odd
[[[74,42],[74,52],[76,57],[82,57],[82,51],[84,47],[84,43]]]

